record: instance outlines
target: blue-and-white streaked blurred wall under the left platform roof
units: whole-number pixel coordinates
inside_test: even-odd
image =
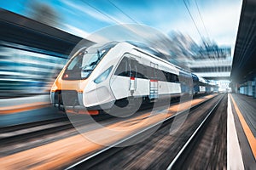
[[[54,53],[9,42],[1,42],[0,51],[1,98],[48,94],[56,72],[66,63]]]

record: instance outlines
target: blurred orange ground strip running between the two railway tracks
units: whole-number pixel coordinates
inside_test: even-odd
[[[210,99],[215,95],[217,94],[212,94],[202,99],[192,100],[192,105],[197,105],[203,100]],[[173,105],[169,108],[170,112],[167,116],[172,116],[177,111],[183,111],[186,109],[188,109],[186,106],[182,107]],[[166,114],[161,114],[160,111],[154,116],[148,116],[150,116],[150,113],[145,113],[107,126],[107,128],[118,131],[119,135],[113,136],[111,133],[104,133],[104,128],[101,128],[83,133],[83,135],[75,135],[50,144],[44,144],[31,150],[25,150],[13,155],[4,156],[0,158],[0,167],[6,167],[9,169],[52,169],[67,167],[69,164],[73,163],[73,161],[81,159],[81,156],[88,156],[92,152],[101,150],[104,147],[100,144],[96,144],[94,141],[84,138],[86,135],[102,140],[102,144],[113,144],[120,139],[130,136],[132,133],[137,133],[140,129],[149,127],[154,123],[166,119]]]

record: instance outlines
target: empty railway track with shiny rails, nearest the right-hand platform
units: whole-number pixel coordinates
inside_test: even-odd
[[[220,101],[222,99],[223,99],[223,96],[221,97],[220,95],[218,95],[218,97],[214,97],[212,99],[207,99],[206,101],[203,101],[198,105],[192,106],[189,110],[190,111],[200,110],[200,108],[203,105],[207,105],[208,102],[213,102],[213,104],[214,104],[214,105],[210,105],[209,108],[211,108],[212,106],[214,106],[214,108],[215,108],[215,107],[217,107],[217,105],[220,103]],[[82,159],[80,161],[77,161],[77,162],[74,162],[73,164],[71,164],[66,169],[89,169],[89,168],[100,169],[100,168],[104,168],[106,166],[109,167],[109,168],[112,168],[112,169],[119,169],[119,168],[124,168],[124,167],[122,167],[124,165],[126,165],[128,168],[130,168],[130,167],[131,168],[137,168],[137,167],[132,167],[132,166],[129,167],[129,165],[128,165],[129,163],[127,163],[127,161],[124,161],[121,157],[125,157],[125,154],[126,154],[126,155],[128,155],[127,160],[131,160],[131,161],[136,160],[137,159],[136,156],[132,157],[132,158],[129,157],[129,156],[131,156],[131,153],[135,152],[134,150],[139,150],[139,148],[141,148],[141,147],[146,147],[147,144],[149,143],[148,140],[152,140],[152,141],[153,140],[154,141],[161,140],[161,139],[154,139],[154,137],[157,137],[157,136],[160,136],[160,135],[154,134],[154,135],[152,135],[153,136],[152,138],[149,138],[149,139],[143,141],[140,144],[135,144],[135,145],[132,145],[132,146],[127,146],[127,147],[116,147],[116,146],[118,146],[119,144],[129,142],[129,140],[131,140],[131,139],[136,139],[138,136],[143,136],[143,133],[146,133],[151,128],[154,128],[154,127],[158,126],[160,123],[163,123],[163,124],[161,125],[160,129],[158,131],[156,131],[155,133],[162,133],[161,131],[164,131],[164,133],[166,133],[166,132],[169,133],[169,129],[170,129],[169,125],[170,125],[170,123],[172,123],[173,118],[177,115],[182,115],[183,113],[185,113],[187,111],[188,110],[181,111],[181,112],[177,113],[174,116],[170,116],[170,117],[166,118],[166,120],[163,120],[162,122],[158,122],[158,123],[156,123],[156,124],[154,124],[150,127],[147,127],[145,129],[143,129],[142,131],[140,131],[138,133],[135,133],[135,134],[129,136],[126,139],[122,139],[119,142],[104,148],[103,150],[99,150],[96,153],[94,153],[93,155],[86,156],[86,157],[84,157],[84,159]],[[208,113],[207,115],[210,116],[213,111],[214,111],[214,109],[211,109],[211,110],[208,109],[207,110],[207,113]],[[211,114],[210,114],[210,112],[211,112]],[[207,118],[205,118],[205,119],[207,120],[209,118],[209,116],[207,116]],[[166,129],[163,130],[164,128],[166,128]],[[201,128],[201,125],[200,125],[200,127],[198,127],[198,129],[200,129],[200,128]],[[195,131],[198,131],[198,130],[195,130]],[[195,134],[193,133],[192,136],[195,136]],[[191,137],[191,139],[189,138],[189,140],[192,140],[193,138],[194,137]],[[189,142],[186,142],[185,145],[188,145],[187,143],[189,144]],[[148,148],[146,150],[150,150],[150,144],[148,144],[148,145],[149,146],[147,146]],[[187,147],[185,145],[183,146],[183,149],[180,149],[180,150],[185,150],[186,147]],[[130,151],[127,151],[127,150],[130,150]],[[175,158],[172,158],[172,160],[173,161],[178,160],[179,156],[182,155],[182,153],[183,153],[183,151],[179,151],[179,152],[177,151],[177,156]],[[143,155],[143,153],[140,153],[140,154]],[[134,155],[136,155],[136,154],[134,154]],[[124,158],[124,159],[126,159],[126,158]],[[152,157],[151,157],[151,159],[152,159]],[[168,161],[170,162],[172,160],[168,160]],[[173,162],[173,163],[175,163],[175,162]],[[113,164],[117,165],[117,167],[112,167]],[[122,164],[122,166],[121,166],[121,164]],[[140,164],[140,163],[138,163],[138,164]],[[160,167],[155,167],[154,165],[149,165],[148,167],[145,167],[145,168],[160,168],[160,169],[162,169],[162,168],[168,168],[169,166],[171,166],[170,168],[172,168],[171,164],[169,165],[168,163],[167,164],[165,163],[164,166],[160,166]],[[143,169],[143,167],[142,167],[142,169]]]

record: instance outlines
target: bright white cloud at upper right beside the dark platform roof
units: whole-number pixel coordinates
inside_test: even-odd
[[[205,8],[199,7],[207,32],[196,7],[192,5],[189,7],[189,10],[203,37],[207,37],[208,32],[210,39],[220,45],[235,44],[241,12],[241,1],[236,1],[236,3],[216,3],[215,6],[207,6]],[[186,14],[189,16],[188,11],[186,11]],[[190,17],[184,17],[183,20],[176,20],[163,27],[171,28],[170,31],[176,30],[187,33],[195,42],[201,42],[201,37]]]

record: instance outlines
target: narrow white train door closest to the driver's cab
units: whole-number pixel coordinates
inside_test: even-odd
[[[137,60],[134,58],[129,58],[129,72],[130,72],[130,92],[131,95],[137,89]]]

